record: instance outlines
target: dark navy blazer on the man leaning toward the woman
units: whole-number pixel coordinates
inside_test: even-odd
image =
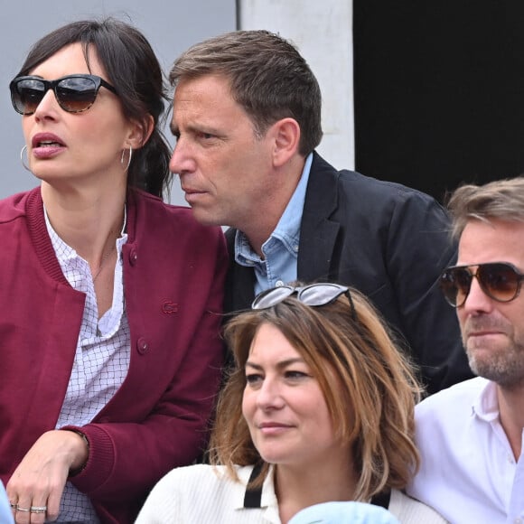
[[[298,251],[298,280],[352,285],[400,333],[428,393],[471,378],[454,308],[436,285],[454,264],[449,219],[435,199],[394,182],[337,171],[314,153]],[[250,306],[255,273],[234,261],[236,229],[226,232],[225,311]]]

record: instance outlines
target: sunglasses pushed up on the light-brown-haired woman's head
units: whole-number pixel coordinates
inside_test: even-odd
[[[272,307],[294,294],[296,294],[299,302],[312,306],[331,304],[340,295],[347,295],[351,305],[351,315],[355,318],[355,308],[351,299],[350,288],[346,285],[331,284],[328,282],[304,285],[304,287],[280,285],[267,289],[257,295],[253,304],[251,304],[251,309],[266,309],[267,307]]]

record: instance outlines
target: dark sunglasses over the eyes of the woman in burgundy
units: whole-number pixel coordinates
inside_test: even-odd
[[[87,111],[94,103],[100,87],[117,94],[106,80],[96,75],[77,74],[58,80],[40,77],[16,77],[9,84],[14,110],[21,115],[33,115],[49,89],[52,89],[59,106],[68,113]]]

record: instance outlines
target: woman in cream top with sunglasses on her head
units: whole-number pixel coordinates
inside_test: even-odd
[[[279,524],[328,501],[443,524],[402,492],[418,465],[419,388],[364,296],[284,285],[252,308],[226,326],[237,368],[220,396],[212,465],[168,473],[136,524]]]

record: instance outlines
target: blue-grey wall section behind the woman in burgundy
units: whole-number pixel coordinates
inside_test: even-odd
[[[0,198],[39,183],[20,163],[22,117],[11,106],[9,82],[20,69],[30,46],[44,34],[73,20],[102,15],[114,15],[136,25],[151,42],[166,71],[176,56],[192,43],[236,28],[235,0],[3,0],[0,18]],[[169,132],[166,136],[170,137]],[[185,204],[176,180],[172,201]]]

